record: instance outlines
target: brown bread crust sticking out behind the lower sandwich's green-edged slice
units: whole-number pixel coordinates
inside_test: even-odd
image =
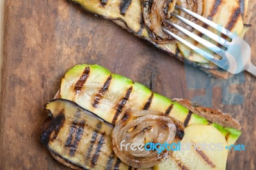
[[[231,118],[226,113],[223,113],[219,110],[212,109],[209,107],[200,107],[198,104],[194,104],[189,100],[184,100],[180,98],[173,98],[173,102],[177,102],[178,104],[188,108],[190,111],[198,114],[198,116],[202,116],[203,118],[211,121],[212,123],[217,123],[223,127],[236,128],[241,130],[241,125],[238,121]]]

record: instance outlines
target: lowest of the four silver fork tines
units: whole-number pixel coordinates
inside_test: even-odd
[[[221,67],[221,65],[220,65],[221,60],[214,58],[214,56],[212,56],[211,54],[209,54],[209,53],[205,52],[204,50],[196,47],[195,45],[187,42],[186,40],[184,40],[184,39],[180,38],[179,36],[173,34],[172,32],[168,31],[167,29],[163,28],[163,31],[166,34],[168,34],[168,35],[172,36],[173,38],[175,38],[176,40],[178,40],[179,42],[184,43],[190,49],[195,50],[195,52],[197,52],[198,54],[201,54],[202,56],[204,56],[204,58],[208,59],[209,61],[212,61],[212,63],[215,63],[216,65]]]

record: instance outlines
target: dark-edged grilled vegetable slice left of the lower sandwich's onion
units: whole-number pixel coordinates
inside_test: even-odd
[[[44,109],[50,118],[41,139],[51,153],[80,169],[129,169],[113,153],[113,125],[68,100],[52,100]]]

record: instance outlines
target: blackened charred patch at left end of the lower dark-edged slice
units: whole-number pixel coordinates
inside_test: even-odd
[[[56,118],[52,119],[51,125],[48,128],[46,128],[41,135],[41,141],[45,146],[48,146],[50,140],[53,141],[54,139],[56,139],[58,133],[60,132],[60,129],[63,127],[65,123],[65,120],[66,118],[63,112],[60,112],[60,114],[58,114]],[[51,139],[52,132],[54,132],[54,136]]]

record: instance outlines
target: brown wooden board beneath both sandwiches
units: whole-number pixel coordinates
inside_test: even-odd
[[[254,63],[255,21],[256,13],[246,34]],[[237,144],[245,144],[246,151],[231,151],[227,167],[256,168],[255,77],[241,73],[231,83],[207,77],[69,1],[6,0],[0,169],[67,168],[40,142],[40,126],[47,117],[42,106],[54,97],[63,74],[81,63],[105,66],[169,98],[198,100],[229,112],[243,126]],[[206,83],[196,89],[198,79],[211,88]]]

